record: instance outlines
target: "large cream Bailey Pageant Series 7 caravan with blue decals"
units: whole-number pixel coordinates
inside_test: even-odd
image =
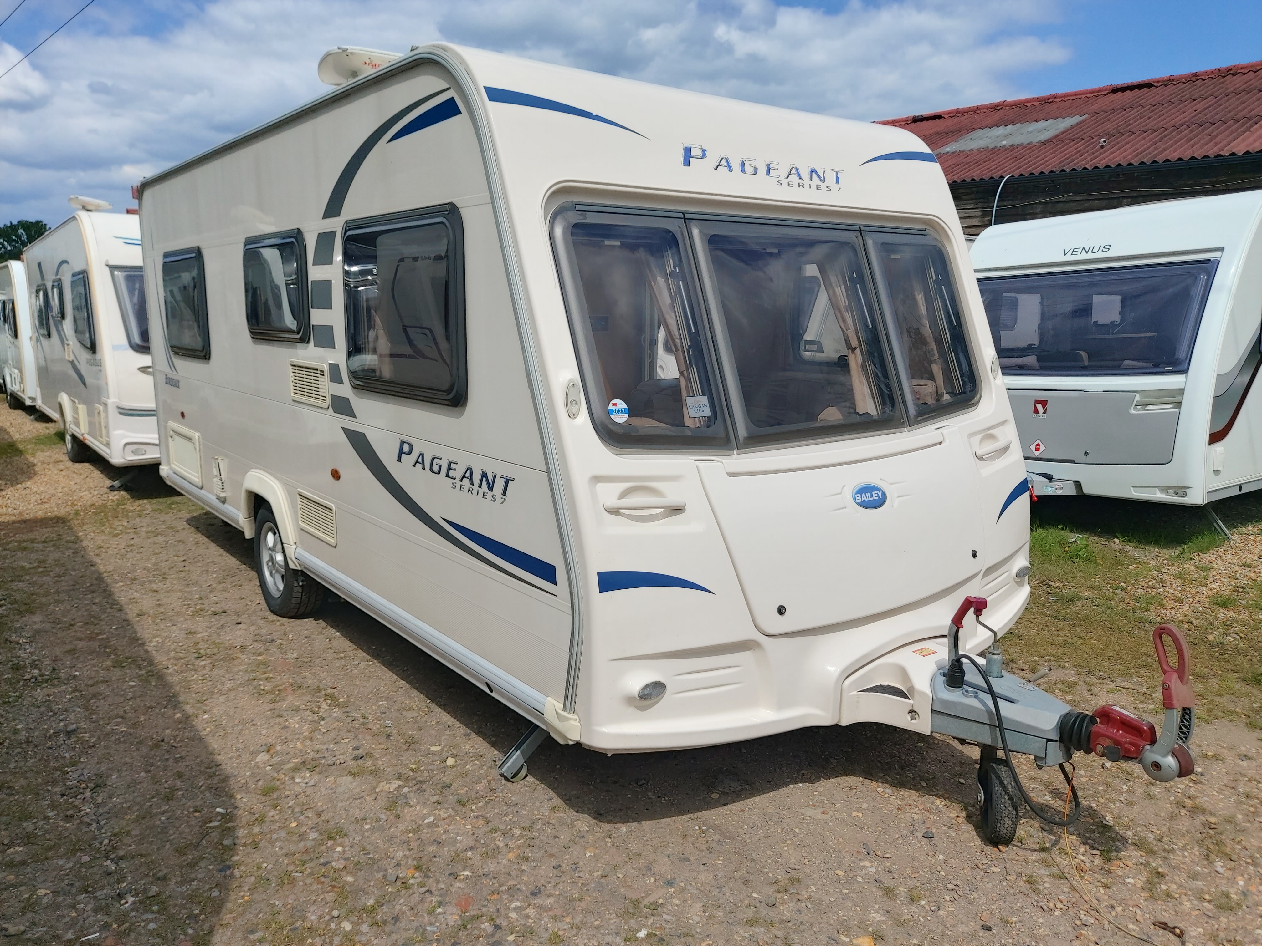
[[[928,733],[960,597],[1025,607],[1012,414],[905,131],[440,44],[140,197],[162,474],[278,614],[332,589],[635,752]]]

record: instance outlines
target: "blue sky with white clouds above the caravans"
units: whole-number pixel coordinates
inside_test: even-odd
[[[85,0],[27,0],[0,71]],[[0,0],[0,18],[16,0]],[[333,45],[445,39],[751,101],[880,119],[1262,58],[1220,0],[96,0],[0,79],[0,222],[57,223],[324,91]]]

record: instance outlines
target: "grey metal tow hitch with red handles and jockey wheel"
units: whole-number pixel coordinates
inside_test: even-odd
[[[959,633],[970,610],[977,623],[994,638],[984,666],[959,651]],[[982,748],[977,783],[987,841],[1012,843],[1021,801],[1047,824],[1059,826],[1078,820],[1082,805],[1073,776],[1065,768],[1075,752],[1089,752],[1111,762],[1135,759],[1159,782],[1193,773],[1195,761],[1188,743],[1196,696],[1188,681],[1191,670],[1188,641],[1179,628],[1162,624],[1152,632],[1162,672],[1161,700],[1166,708],[1159,737],[1152,723],[1121,706],[1106,705],[1094,713],[1082,713],[1034,684],[1006,675],[998,634],[982,622],[984,598],[968,597],[952,618],[946,629],[946,666],[934,674],[931,684],[930,728]],[[1177,666],[1170,663],[1167,645],[1175,650]],[[1035,805],[1011,764],[1013,753],[1032,756],[1040,768],[1058,766],[1069,786],[1071,811],[1059,816]]]

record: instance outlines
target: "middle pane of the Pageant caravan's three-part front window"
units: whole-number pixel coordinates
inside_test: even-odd
[[[743,440],[901,423],[857,231],[699,223]]]

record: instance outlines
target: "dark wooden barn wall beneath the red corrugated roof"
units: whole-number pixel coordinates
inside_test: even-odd
[[[998,179],[950,185],[965,233],[977,235],[991,226],[998,188]],[[1015,223],[1254,188],[1262,188],[1262,154],[1031,174],[1008,178],[1000,193],[994,222]]]

